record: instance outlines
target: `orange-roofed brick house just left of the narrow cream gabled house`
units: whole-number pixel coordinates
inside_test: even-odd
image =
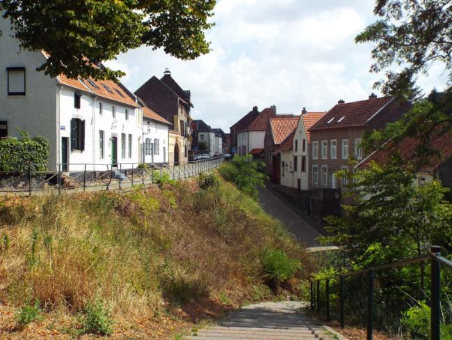
[[[265,173],[273,183],[282,184],[287,168],[291,167],[291,160],[287,164],[285,161],[282,163],[280,148],[292,143],[293,130],[296,130],[299,121],[300,116],[268,119],[264,139]]]

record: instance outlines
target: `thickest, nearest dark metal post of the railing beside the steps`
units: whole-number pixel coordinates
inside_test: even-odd
[[[434,245],[430,247],[431,253],[431,340],[439,340],[439,327],[441,324],[441,263],[436,256],[441,254],[440,247]]]

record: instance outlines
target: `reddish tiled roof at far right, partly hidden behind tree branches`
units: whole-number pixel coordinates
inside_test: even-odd
[[[364,158],[357,164],[360,169],[365,169],[369,167],[369,163],[374,161],[380,164],[384,164],[389,161],[391,152],[396,148],[403,157],[404,160],[409,160],[410,162],[418,162],[419,154],[417,153],[417,147],[419,146],[419,140],[414,138],[405,138],[398,145],[394,144],[392,141],[387,141],[385,145],[368,157]],[[423,164],[420,171],[435,171],[439,165],[444,162],[449,157],[452,157],[452,134],[432,134],[430,137],[430,143],[428,146],[437,152],[439,152],[440,157],[432,155],[428,158],[427,164]]]

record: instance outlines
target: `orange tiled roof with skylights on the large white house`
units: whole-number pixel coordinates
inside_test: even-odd
[[[49,58],[49,54],[42,51],[45,58]],[[95,80],[93,78],[81,79],[70,79],[65,75],[59,75],[56,77],[60,84],[76,88],[81,91],[86,91],[97,95],[99,97],[114,100],[115,102],[121,102],[133,107],[140,107],[134,97],[132,97],[127,91],[124,91],[119,83],[113,82],[112,80]],[[107,89],[108,88],[108,89]],[[110,91],[108,91],[110,90]]]

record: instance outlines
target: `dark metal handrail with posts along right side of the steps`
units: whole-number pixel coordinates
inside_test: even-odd
[[[431,298],[431,340],[439,340],[440,333],[439,327],[441,324],[441,265],[445,265],[447,268],[452,269],[452,261],[441,256],[440,247],[430,247],[430,254],[417,256],[414,258],[406,258],[402,261],[388,263],[385,265],[379,265],[378,267],[366,268],[363,270],[357,270],[355,272],[349,272],[336,277],[328,277],[326,279],[318,279],[311,281],[311,310],[316,310],[320,313],[320,291],[321,281],[325,281],[325,314],[326,320],[330,321],[330,280],[339,279],[339,322],[341,328],[345,327],[345,284],[346,277],[354,277],[357,275],[368,275],[368,290],[367,290],[367,340],[373,339],[373,279],[376,272],[381,270],[387,270],[392,268],[399,268],[412,263],[418,263],[430,259],[430,298]],[[315,282],[315,284],[314,284]]]

